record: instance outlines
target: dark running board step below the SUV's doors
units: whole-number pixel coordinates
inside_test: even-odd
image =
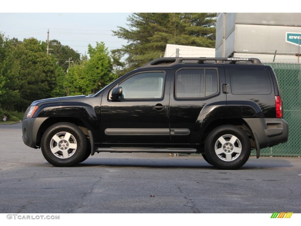
[[[105,147],[97,148],[96,152],[149,152],[149,153],[197,153],[195,148],[143,148],[143,147]]]

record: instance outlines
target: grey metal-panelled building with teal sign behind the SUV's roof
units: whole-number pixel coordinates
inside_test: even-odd
[[[287,42],[290,34],[295,43]],[[301,63],[300,36],[301,13],[218,13],[216,57]]]

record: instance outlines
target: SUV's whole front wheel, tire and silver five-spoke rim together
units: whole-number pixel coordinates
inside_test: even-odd
[[[60,122],[45,131],[41,149],[50,164],[60,167],[74,166],[86,157],[87,139],[76,125]]]

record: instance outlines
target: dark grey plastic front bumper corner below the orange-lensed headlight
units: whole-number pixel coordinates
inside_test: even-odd
[[[32,148],[39,148],[38,131],[47,118],[26,118],[22,121],[23,142]]]

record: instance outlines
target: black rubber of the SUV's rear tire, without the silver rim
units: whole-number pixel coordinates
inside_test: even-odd
[[[223,161],[215,153],[216,141],[219,139],[219,137],[226,135],[226,134],[236,136],[241,143],[240,155],[236,159],[234,159],[230,162]],[[232,125],[217,127],[215,130],[213,130],[211,133],[209,133],[209,135],[206,139],[206,143],[205,143],[205,154],[206,154],[208,161],[212,165],[214,165],[220,169],[237,169],[237,168],[241,167],[249,159],[250,152],[251,152],[251,148],[250,148],[250,140],[249,140],[248,136],[246,135],[246,133],[244,133],[243,130],[239,129],[236,126],[232,126]]]

